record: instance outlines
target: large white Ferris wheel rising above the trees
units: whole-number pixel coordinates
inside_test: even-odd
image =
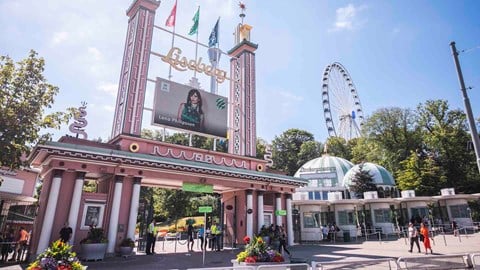
[[[345,140],[360,137],[363,110],[357,89],[348,71],[340,63],[328,65],[323,72],[322,104],[330,137]]]

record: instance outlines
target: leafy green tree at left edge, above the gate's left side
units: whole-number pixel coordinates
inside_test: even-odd
[[[23,155],[40,141],[50,140],[43,129],[60,128],[75,110],[45,113],[54,103],[59,88],[43,76],[45,60],[35,51],[20,62],[0,56],[0,166],[12,169],[24,165]]]

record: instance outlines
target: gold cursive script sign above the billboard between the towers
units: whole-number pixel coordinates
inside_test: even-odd
[[[227,77],[227,72],[222,69],[214,68],[212,66],[202,63],[202,57],[197,60],[188,60],[185,56],[181,57],[182,50],[177,47],[172,47],[167,55],[162,56],[163,62],[170,64],[174,69],[179,71],[185,71],[187,69],[197,71],[199,73],[205,73],[208,76],[215,76],[218,83],[223,83],[225,79],[230,80]]]

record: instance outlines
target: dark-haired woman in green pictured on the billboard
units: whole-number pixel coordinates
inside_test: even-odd
[[[178,107],[178,120],[195,131],[203,131],[202,96],[197,89],[188,91],[187,102]]]

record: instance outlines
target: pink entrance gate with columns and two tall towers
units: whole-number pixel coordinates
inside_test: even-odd
[[[43,187],[30,253],[41,253],[68,221],[74,247],[90,222],[105,229],[107,253],[125,237],[134,237],[140,186],[180,188],[183,183],[212,185],[225,206],[225,233],[236,243],[263,225],[265,212],[286,210],[276,224],[292,231],[291,194],[305,180],[265,172],[255,156],[255,50],[243,39],[229,52],[233,80],[230,153],[220,153],[139,138],[155,10],[160,2],[136,0],[127,11],[129,24],[120,74],[112,140],[98,143],[62,137],[35,147],[32,166]],[[236,74],[236,75],[235,75]],[[240,74],[245,74],[240,80]],[[235,79],[237,76],[238,78]],[[239,109],[243,114],[235,116]],[[86,179],[98,182],[96,193],[83,192]],[[231,206],[231,207],[227,207]]]

